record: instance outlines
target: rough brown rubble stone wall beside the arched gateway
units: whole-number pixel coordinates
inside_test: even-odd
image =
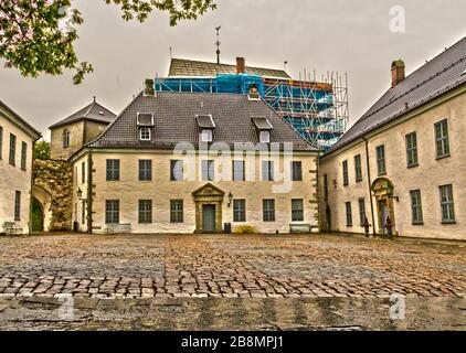
[[[70,231],[72,228],[73,202],[73,170],[66,161],[36,160],[34,161],[34,190],[42,189],[50,194],[42,204],[44,210],[50,210],[49,231]],[[33,192],[33,196],[34,192]],[[36,200],[43,203],[44,197],[38,195]]]

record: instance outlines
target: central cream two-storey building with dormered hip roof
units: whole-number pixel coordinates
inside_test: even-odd
[[[318,231],[319,151],[273,109],[150,86],[71,158],[81,231]]]

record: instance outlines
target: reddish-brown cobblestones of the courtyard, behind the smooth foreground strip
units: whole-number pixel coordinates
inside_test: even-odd
[[[0,237],[0,299],[464,298],[465,245],[333,235]]]

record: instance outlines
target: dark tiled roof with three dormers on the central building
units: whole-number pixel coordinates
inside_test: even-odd
[[[153,113],[155,128],[151,141],[139,141],[137,114]],[[293,142],[295,151],[318,151],[304,140],[290,125],[261,100],[245,95],[158,93],[139,94],[106,131],[87,146],[93,148],[172,149],[177,143],[189,142],[199,147],[200,128],[195,116],[212,115],[215,121],[213,142],[258,143],[252,117],[264,116],[274,126],[271,142]],[[282,145],[283,147],[283,145]]]

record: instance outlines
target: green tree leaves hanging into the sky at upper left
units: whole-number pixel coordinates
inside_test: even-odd
[[[167,11],[170,25],[180,20],[195,20],[216,8],[214,0],[104,0],[121,8],[126,21],[144,22],[152,10]],[[74,51],[78,39],[76,26],[84,22],[81,12],[72,9],[72,0],[1,0],[0,58],[6,67],[22,75],[61,75],[74,69],[74,84],[93,72],[87,62],[80,62]]]

